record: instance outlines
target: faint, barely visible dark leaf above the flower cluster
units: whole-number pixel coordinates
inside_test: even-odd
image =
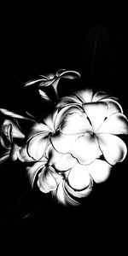
[[[87,33],[79,56],[82,77],[92,87],[102,79],[108,57],[108,30],[96,26]]]

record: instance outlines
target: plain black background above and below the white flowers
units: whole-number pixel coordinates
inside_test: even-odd
[[[20,89],[27,79],[67,68],[82,73],[84,86],[91,85],[95,90],[105,90],[119,96],[125,114],[128,113],[128,24],[125,7],[112,9],[104,4],[100,9],[80,3],[9,2],[5,17],[0,76],[2,107],[21,108],[24,100],[20,96]],[[96,42],[97,32],[103,35],[100,36],[103,39],[99,39],[90,79],[90,45]],[[36,108],[38,103],[35,101],[33,104]],[[7,163],[0,168],[4,237],[6,241],[7,237],[13,236],[14,247],[17,237],[22,245],[25,242],[29,245],[29,239],[38,240],[37,248],[41,247],[42,250],[48,241],[47,250],[49,252],[51,249],[53,253],[59,250],[59,244],[62,251],[67,252],[67,245],[78,249],[79,255],[80,248],[84,249],[84,253],[86,250],[91,252],[93,248],[96,253],[101,251],[102,255],[107,249],[110,253],[112,245],[113,249],[125,248],[127,158],[114,166],[106,183],[94,186],[92,195],[82,207],[56,205],[49,195],[41,195],[36,190],[28,192],[16,212],[10,214],[16,201],[30,186],[19,164]],[[17,220],[31,212],[32,206],[36,207],[41,201],[38,211]]]

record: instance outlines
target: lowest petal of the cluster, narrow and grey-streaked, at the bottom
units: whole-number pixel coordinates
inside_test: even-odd
[[[75,201],[68,193],[67,190],[65,189],[65,181],[62,180],[61,183],[59,183],[56,191],[52,192],[53,196],[56,198],[56,200],[65,205],[71,205],[71,206],[79,206],[79,202]]]

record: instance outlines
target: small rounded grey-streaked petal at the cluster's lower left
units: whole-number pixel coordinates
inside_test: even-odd
[[[38,188],[43,193],[49,193],[49,191],[55,190],[57,188],[57,179],[61,179],[61,176],[57,173],[53,173],[52,167],[44,167],[42,172],[38,174]]]

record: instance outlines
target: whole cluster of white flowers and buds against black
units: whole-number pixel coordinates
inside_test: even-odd
[[[61,78],[77,79],[74,71],[59,70],[25,85],[38,85],[39,95],[50,102],[44,87],[55,90],[55,108],[42,121],[32,114],[22,116],[0,108],[6,117],[1,125],[0,162],[10,158],[26,163],[32,184],[51,193],[64,205],[77,206],[93,183],[102,183],[112,167],[125,159],[127,148],[120,135],[128,134],[128,119],[118,99],[103,91],[78,90],[59,98]],[[42,111],[42,110],[39,110]],[[30,130],[20,129],[19,119],[31,121]]]

